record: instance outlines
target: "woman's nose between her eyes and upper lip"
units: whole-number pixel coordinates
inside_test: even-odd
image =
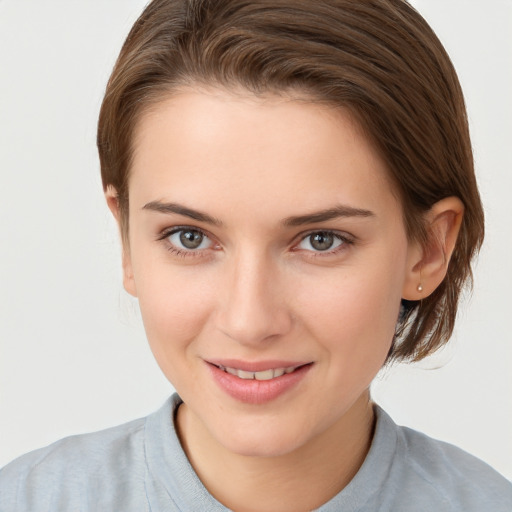
[[[248,251],[231,262],[220,293],[217,326],[247,346],[285,335],[292,326],[282,272],[272,258]]]

